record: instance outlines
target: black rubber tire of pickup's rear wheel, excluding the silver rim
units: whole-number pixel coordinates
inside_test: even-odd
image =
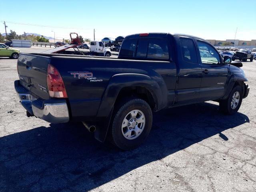
[[[140,110],[145,116],[145,124],[142,132],[134,139],[128,139],[123,135],[122,124],[124,118],[132,110]],[[129,122],[129,121],[128,121]],[[146,140],[152,127],[152,110],[148,103],[142,99],[127,99],[120,102],[113,113],[111,140],[114,145],[122,150],[130,150],[138,147]],[[126,127],[128,130],[128,127]],[[131,130],[132,131],[132,130]]]

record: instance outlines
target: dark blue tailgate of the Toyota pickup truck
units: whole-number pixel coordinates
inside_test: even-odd
[[[17,63],[20,84],[42,99],[49,99],[46,72],[50,57],[20,54]]]

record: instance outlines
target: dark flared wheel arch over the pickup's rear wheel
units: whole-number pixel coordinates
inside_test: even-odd
[[[125,93],[129,93],[125,95]],[[138,96],[146,99],[153,110],[161,104],[162,92],[156,81],[144,74],[116,74],[112,76],[105,89],[97,116],[108,116],[114,104],[122,96]]]

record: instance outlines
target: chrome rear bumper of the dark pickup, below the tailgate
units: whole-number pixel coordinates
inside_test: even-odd
[[[14,82],[16,93],[22,106],[31,114],[50,123],[69,121],[68,105],[65,99],[42,100],[34,97],[29,90]]]

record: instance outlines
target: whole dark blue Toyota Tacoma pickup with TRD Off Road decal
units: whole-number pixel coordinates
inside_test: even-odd
[[[142,33],[126,36],[118,58],[22,53],[14,86],[28,117],[79,121],[129,150],[147,138],[152,112],[215,100],[236,113],[250,89],[240,66],[202,38]]]

